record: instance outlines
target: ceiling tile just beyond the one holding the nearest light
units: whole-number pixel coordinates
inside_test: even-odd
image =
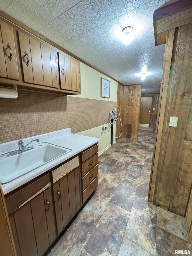
[[[120,51],[120,53],[128,63],[143,62],[143,55],[142,55],[140,47],[138,45],[128,48],[126,50],[122,50],[122,51]]]

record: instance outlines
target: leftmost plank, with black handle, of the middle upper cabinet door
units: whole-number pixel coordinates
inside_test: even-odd
[[[19,34],[19,45],[20,45],[20,53],[21,53],[23,79],[25,83],[34,83],[29,36],[20,31],[18,31],[18,34]]]

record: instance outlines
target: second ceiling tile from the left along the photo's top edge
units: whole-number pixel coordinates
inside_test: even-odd
[[[27,20],[39,29],[56,18],[37,0],[27,1],[27,6],[26,0],[13,0],[7,10],[19,14],[22,19]]]

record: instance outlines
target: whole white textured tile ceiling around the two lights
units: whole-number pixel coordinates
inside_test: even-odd
[[[0,0],[0,9],[123,85],[160,91],[164,45],[155,46],[153,12],[167,0]],[[122,29],[133,26],[133,40]],[[137,76],[142,68],[150,75]]]

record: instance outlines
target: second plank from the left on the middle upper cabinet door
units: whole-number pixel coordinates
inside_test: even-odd
[[[31,48],[34,83],[44,85],[43,66],[41,59],[41,44],[39,41],[31,37],[29,37],[29,42]]]

